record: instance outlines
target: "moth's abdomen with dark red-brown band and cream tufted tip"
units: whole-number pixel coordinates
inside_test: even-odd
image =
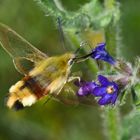
[[[31,106],[45,94],[47,94],[46,90],[35,78],[26,76],[9,89],[6,104],[9,108],[19,110],[25,106]]]

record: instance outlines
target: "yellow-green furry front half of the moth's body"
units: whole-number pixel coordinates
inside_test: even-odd
[[[49,81],[50,84],[47,90],[49,90],[50,93],[55,92],[58,94],[68,79],[71,68],[69,61],[74,57],[72,53],[49,57],[40,61],[29,75],[32,77],[40,75],[42,78],[39,79],[39,82],[41,83],[41,80],[44,79],[44,83],[47,84]]]

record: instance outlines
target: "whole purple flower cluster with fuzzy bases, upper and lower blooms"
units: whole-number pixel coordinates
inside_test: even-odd
[[[105,43],[100,43],[96,46],[95,49],[92,50],[91,57],[95,60],[102,60],[108,62],[115,69],[122,71],[126,74],[126,76],[116,75],[109,77],[105,77],[103,75],[98,75],[96,82],[86,82],[80,81],[76,83],[76,86],[79,87],[77,95],[78,96],[88,96],[93,95],[98,97],[99,105],[114,105],[117,101],[118,95],[122,89],[129,83],[129,77],[131,73],[131,67],[124,63],[123,61],[115,60],[105,49]],[[129,72],[129,73],[128,73]]]

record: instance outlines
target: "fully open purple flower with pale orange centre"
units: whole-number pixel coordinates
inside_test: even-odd
[[[100,105],[115,104],[119,91],[118,85],[113,81],[109,81],[102,75],[98,76],[98,81],[100,85],[95,87],[92,92],[94,96],[101,97],[98,103]]]

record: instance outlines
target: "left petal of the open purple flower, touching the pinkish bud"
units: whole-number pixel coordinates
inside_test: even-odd
[[[106,95],[106,87],[95,87],[92,94],[95,96],[104,96]]]

